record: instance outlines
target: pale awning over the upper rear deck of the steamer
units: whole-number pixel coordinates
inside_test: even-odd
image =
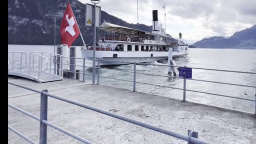
[[[147,33],[146,31],[133,29],[129,27],[118,26],[108,22],[103,22],[102,25],[100,26],[100,29],[105,30],[109,33],[115,33],[115,34],[121,34],[121,35],[143,35],[143,34],[152,35],[150,33]]]

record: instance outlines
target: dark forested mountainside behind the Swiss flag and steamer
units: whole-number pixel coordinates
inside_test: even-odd
[[[69,0],[69,3],[85,43],[92,45],[93,27],[85,26],[85,4],[77,0]],[[53,45],[54,18],[51,15],[56,15],[56,44],[61,44],[60,23],[66,6],[67,0],[8,0],[8,44]],[[105,11],[101,11],[101,18],[101,23],[106,21],[143,31],[152,29],[152,26],[127,23]],[[81,37],[73,45],[83,45]]]

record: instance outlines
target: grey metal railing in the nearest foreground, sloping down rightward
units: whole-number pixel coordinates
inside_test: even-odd
[[[198,139],[198,133],[195,132],[195,131],[188,130],[188,135],[180,134],[180,133],[173,132],[173,131],[170,131],[170,130],[166,130],[166,129],[163,129],[161,127],[154,126],[154,125],[151,125],[151,124],[147,124],[147,123],[144,123],[144,122],[141,122],[141,121],[138,121],[138,120],[126,117],[126,116],[117,115],[117,114],[111,113],[109,111],[105,111],[105,110],[102,110],[102,109],[98,109],[98,108],[95,108],[95,107],[84,105],[83,103],[79,103],[79,102],[76,102],[76,101],[72,101],[72,100],[68,100],[68,99],[62,98],[62,97],[58,97],[56,95],[48,93],[48,90],[38,91],[38,90],[32,89],[30,87],[22,86],[22,85],[19,85],[19,84],[16,84],[16,83],[12,83],[12,82],[8,82],[8,84],[15,85],[15,86],[21,87],[23,89],[26,89],[26,90],[33,91],[33,92],[41,94],[40,117],[37,117],[37,116],[35,116],[35,115],[31,114],[31,113],[28,113],[25,110],[22,110],[22,109],[20,109],[18,107],[15,107],[15,106],[11,105],[10,103],[8,103],[9,107],[11,107],[11,108],[13,108],[15,110],[18,110],[21,113],[23,113],[23,114],[25,114],[25,115],[27,115],[29,117],[32,117],[32,118],[34,118],[34,119],[36,119],[37,121],[40,122],[40,130],[39,130],[39,143],[40,144],[46,144],[47,143],[47,126],[53,127],[54,129],[56,129],[56,130],[58,130],[58,131],[60,131],[62,133],[65,133],[65,134],[69,135],[70,137],[73,137],[73,138],[75,138],[75,139],[77,139],[79,141],[82,141],[84,143],[93,143],[93,142],[91,142],[89,140],[86,140],[86,139],[80,137],[79,135],[76,135],[76,134],[74,134],[72,132],[69,132],[69,131],[59,127],[58,125],[55,125],[55,124],[47,121],[48,97],[53,98],[53,99],[57,99],[57,100],[60,100],[60,101],[65,101],[67,103],[70,103],[70,104],[73,104],[73,105],[76,105],[76,106],[79,106],[79,107],[82,107],[82,108],[86,108],[86,109],[89,109],[89,110],[92,110],[92,111],[96,111],[96,112],[98,112],[100,114],[107,115],[107,116],[110,116],[110,117],[114,117],[114,118],[120,119],[120,120],[125,121],[125,122],[129,122],[129,123],[132,123],[132,124],[135,124],[135,125],[139,125],[139,126],[145,127],[147,129],[150,129],[150,130],[153,130],[153,131],[156,131],[156,132],[159,132],[159,133],[170,135],[171,137],[188,141],[188,143],[191,143],[191,144],[193,144],[193,143],[210,143],[210,142]],[[23,139],[27,140],[28,142],[36,143],[35,141],[33,141],[33,140],[29,139],[28,137],[26,137],[26,135],[24,135],[21,132],[15,130],[10,125],[8,125],[8,128],[11,131],[17,133],[20,137],[22,137]]]

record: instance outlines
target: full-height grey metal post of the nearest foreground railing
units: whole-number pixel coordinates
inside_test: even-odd
[[[47,143],[47,125],[42,123],[43,120],[47,121],[47,106],[48,106],[48,97],[44,95],[44,92],[48,90],[43,90],[41,92],[41,106],[40,106],[40,144]]]

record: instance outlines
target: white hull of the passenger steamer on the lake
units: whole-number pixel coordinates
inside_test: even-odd
[[[84,58],[93,59],[93,50],[81,50]],[[117,54],[117,58],[114,58]],[[187,55],[186,51],[173,51],[173,57]],[[168,58],[168,52],[141,52],[141,51],[95,51],[95,58],[101,60],[100,65],[125,65],[128,63],[151,62]]]

